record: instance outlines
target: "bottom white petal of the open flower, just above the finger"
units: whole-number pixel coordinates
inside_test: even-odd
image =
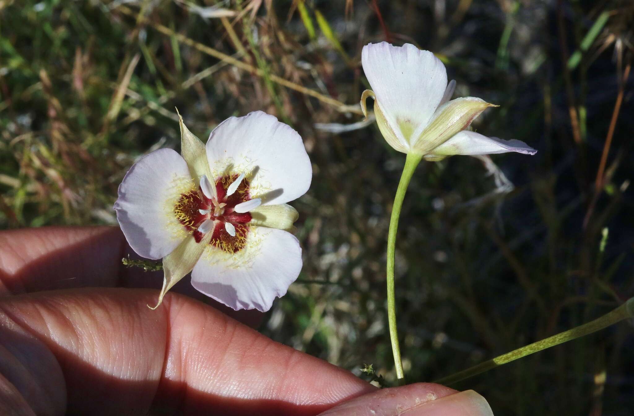
[[[251,227],[247,246],[228,254],[208,246],[191,272],[191,284],[230,308],[268,311],[302,269],[302,249],[292,234]]]

